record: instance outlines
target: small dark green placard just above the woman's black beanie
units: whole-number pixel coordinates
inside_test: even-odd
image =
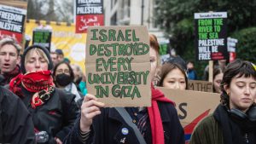
[[[49,30],[35,29],[33,31],[33,41],[32,41],[32,43],[42,45],[50,51],[51,33],[52,32],[49,31]]]

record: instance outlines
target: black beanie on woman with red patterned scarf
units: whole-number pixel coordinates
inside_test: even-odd
[[[47,56],[47,59],[49,60],[49,64],[48,64],[48,70],[51,70],[53,68],[53,62],[50,58],[50,55],[49,55],[49,50],[48,49],[45,49],[43,46],[41,45],[32,45],[32,46],[29,46],[25,49],[23,55],[21,56],[21,62],[20,62],[20,70],[23,74],[26,73],[26,69],[25,69],[25,57],[26,57],[26,54],[29,50],[31,49],[35,49],[35,48],[38,48],[38,49],[42,49],[44,51],[44,54]]]

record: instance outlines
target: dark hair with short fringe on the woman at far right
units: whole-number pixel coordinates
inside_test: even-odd
[[[220,95],[220,102],[224,106],[230,107],[230,96],[225,91],[224,85],[230,87],[231,80],[235,77],[252,77],[256,80],[256,71],[253,67],[253,64],[249,61],[238,59],[226,66],[224,69],[224,76],[220,84],[220,89],[222,91],[222,94]]]

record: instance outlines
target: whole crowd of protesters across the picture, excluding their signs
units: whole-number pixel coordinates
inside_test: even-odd
[[[20,55],[15,39],[0,40],[0,143],[184,144],[175,101],[155,86],[188,89],[189,79],[198,79],[194,62],[172,57],[161,64],[157,38],[149,34],[149,42],[152,106],[120,108],[88,94],[84,73],[61,49],[32,45]],[[191,144],[256,143],[255,66],[246,60],[226,65],[214,65],[220,103],[196,126]]]

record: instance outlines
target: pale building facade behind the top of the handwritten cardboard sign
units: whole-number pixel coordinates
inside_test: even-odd
[[[105,26],[147,26],[159,43],[169,43],[154,20],[157,0],[104,0]]]

